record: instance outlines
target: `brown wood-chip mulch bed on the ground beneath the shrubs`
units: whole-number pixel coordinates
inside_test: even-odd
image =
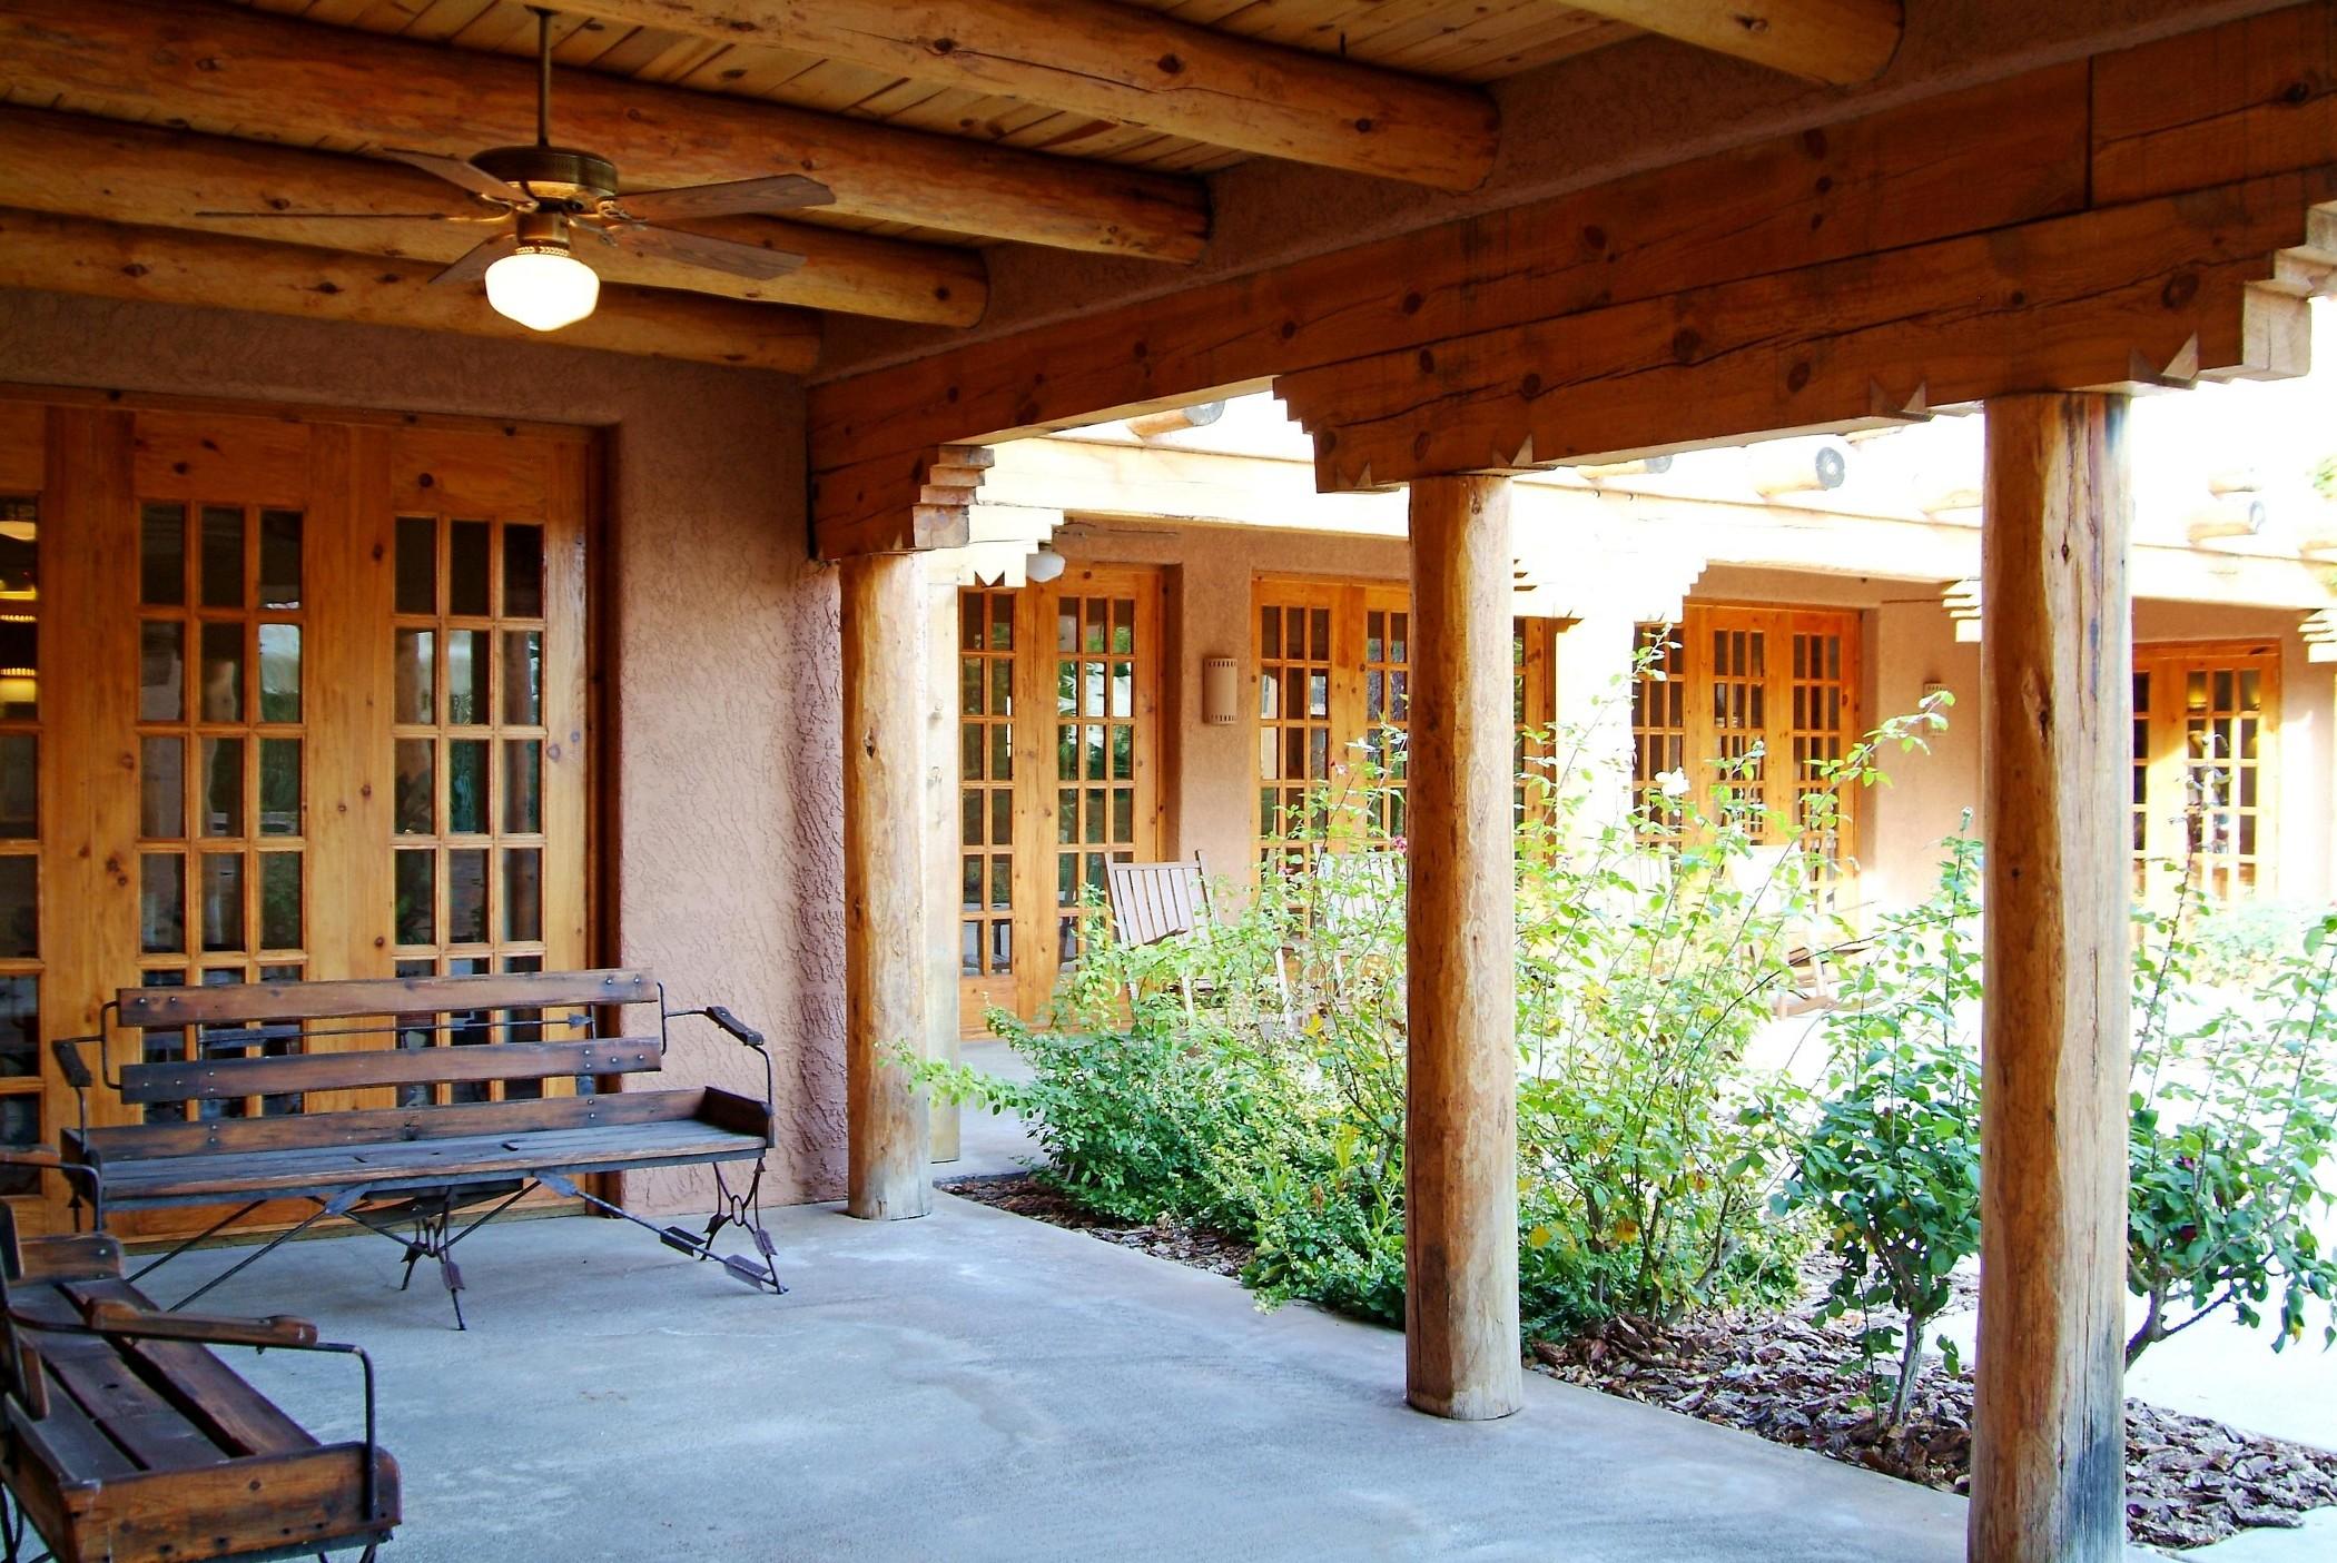
[[[1028,1173],[935,1187],[1218,1276],[1239,1276],[1253,1252],[1222,1231],[1168,1217],[1147,1227],[1108,1222]],[[1884,1435],[1858,1374],[1844,1371],[1858,1362],[1856,1327],[1816,1318],[1825,1276],[1814,1269],[1807,1280],[1802,1306],[1788,1313],[1727,1311],[1678,1325],[1615,1320],[1575,1341],[1535,1341],[1535,1367],[1566,1383],[1757,1432],[1902,1481],[1968,1491],[1970,1376],[1949,1376],[1937,1357],[1928,1360],[1905,1427]],[[2127,1402],[2127,1535],[2134,1542],[2206,1547],[2251,1526],[2295,1528],[2323,1505],[2337,1505],[2337,1453]]]

